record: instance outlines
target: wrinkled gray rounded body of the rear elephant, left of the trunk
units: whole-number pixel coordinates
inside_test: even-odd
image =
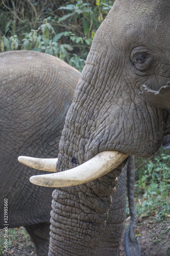
[[[35,170],[21,165],[17,157],[50,158],[58,154],[80,74],[48,54],[0,54],[0,228],[4,228],[7,198],[8,227],[25,226],[40,256],[48,252],[53,188],[30,183]]]

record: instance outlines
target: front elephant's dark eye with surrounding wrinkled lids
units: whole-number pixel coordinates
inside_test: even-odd
[[[131,61],[139,71],[148,71],[153,63],[153,54],[146,48],[136,47],[131,52]]]

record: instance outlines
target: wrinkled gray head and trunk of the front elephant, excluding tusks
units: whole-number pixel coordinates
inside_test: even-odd
[[[95,34],[67,113],[59,172],[102,151],[150,157],[158,150],[170,131],[168,105],[156,106],[146,95],[166,97],[159,89],[170,80],[169,13],[169,0],[115,1]],[[113,170],[54,190],[48,255],[98,255],[115,185]],[[119,252],[107,248],[103,255]]]

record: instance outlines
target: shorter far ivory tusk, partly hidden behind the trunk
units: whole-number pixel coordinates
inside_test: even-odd
[[[18,161],[31,168],[38,170],[46,170],[47,172],[56,173],[57,158],[46,159],[46,158],[34,158],[34,157],[18,157]]]

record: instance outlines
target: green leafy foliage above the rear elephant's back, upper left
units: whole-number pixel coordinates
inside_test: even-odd
[[[0,52],[44,52],[82,71],[95,31],[113,1],[49,2],[47,5],[45,1],[37,4],[37,1],[31,0],[4,0],[0,4]]]

